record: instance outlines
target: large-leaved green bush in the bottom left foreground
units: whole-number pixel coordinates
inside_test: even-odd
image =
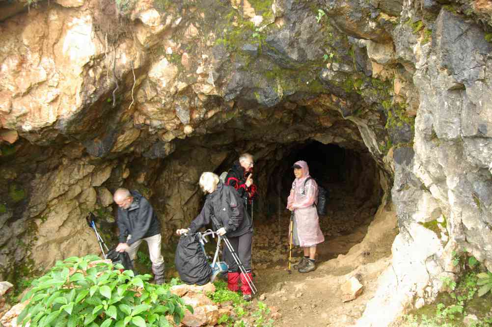
[[[116,268],[116,269],[115,269]],[[150,327],[171,326],[184,317],[184,302],[163,286],[148,283],[151,275],[134,276],[123,266],[99,257],[70,257],[58,261],[32,282],[22,301],[30,300],[17,323],[31,327]],[[192,308],[186,305],[192,312]]]

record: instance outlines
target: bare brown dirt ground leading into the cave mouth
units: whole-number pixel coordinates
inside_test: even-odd
[[[332,199],[327,215],[320,218],[325,242],[318,246],[317,269],[309,273],[294,268],[290,274],[287,271],[287,211],[280,219],[254,222],[254,282],[263,302],[281,315],[274,326],[351,326],[361,317],[375,292],[377,277],[390,263],[391,244],[397,234],[396,222],[388,219],[391,213],[382,214],[386,221],[370,231],[372,237],[364,239],[376,209],[365,208],[350,194],[336,196],[339,199]],[[301,255],[301,249],[294,249],[292,262]],[[364,285],[363,293],[342,302],[340,286],[354,275]],[[253,305],[258,298],[253,299]]]

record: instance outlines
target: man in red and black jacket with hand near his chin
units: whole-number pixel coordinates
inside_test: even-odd
[[[247,204],[251,204],[251,200],[256,195],[256,185],[253,184],[253,165],[253,156],[249,153],[243,153],[225,178],[225,184],[233,186],[238,191],[239,196],[247,200]]]

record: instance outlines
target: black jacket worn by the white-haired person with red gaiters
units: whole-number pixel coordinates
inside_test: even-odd
[[[212,216],[224,227],[227,237],[238,237],[252,231],[251,220],[245,212],[244,201],[232,186],[218,182],[214,192],[207,195],[200,214],[191,222],[190,233],[196,233],[200,228],[212,221]]]

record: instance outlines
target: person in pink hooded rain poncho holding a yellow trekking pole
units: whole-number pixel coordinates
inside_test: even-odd
[[[304,257],[294,265],[294,268],[298,268],[299,272],[309,272],[316,269],[316,244],[325,240],[319,228],[315,206],[318,199],[318,184],[314,179],[309,178],[306,161],[297,161],[292,168],[296,179],[292,182],[292,189],[287,198],[287,209],[294,211],[292,241],[294,245],[304,248]]]

